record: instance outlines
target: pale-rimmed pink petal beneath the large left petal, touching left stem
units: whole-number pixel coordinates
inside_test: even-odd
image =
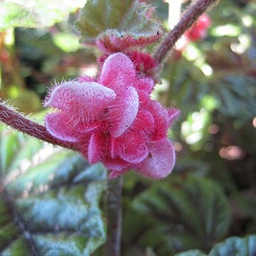
[[[46,115],[46,129],[54,137],[66,142],[79,142],[80,138],[87,132],[99,126],[99,123],[92,122],[90,124],[75,124],[70,120],[70,116],[65,112],[50,113]]]

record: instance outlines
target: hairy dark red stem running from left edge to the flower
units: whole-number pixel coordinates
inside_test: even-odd
[[[36,139],[41,139],[44,142],[63,146],[67,149],[76,149],[75,143],[63,142],[60,139],[56,139],[49,134],[49,132],[46,130],[46,127],[36,122],[33,122],[26,117],[23,117],[23,115],[12,110],[11,107],[7,107],[2,102],[0,102],[0,121],[4,122],[4,124],[7,124],[14,129],[17,129],[20,132],[35,137]]]

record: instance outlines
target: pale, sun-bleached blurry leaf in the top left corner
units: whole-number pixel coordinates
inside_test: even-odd
[[[14,0],[0,3],[0,31],[13,27],[43,28],[60,22],[70,12],[81,6],[83,1],[26,0],[16,4]]]

